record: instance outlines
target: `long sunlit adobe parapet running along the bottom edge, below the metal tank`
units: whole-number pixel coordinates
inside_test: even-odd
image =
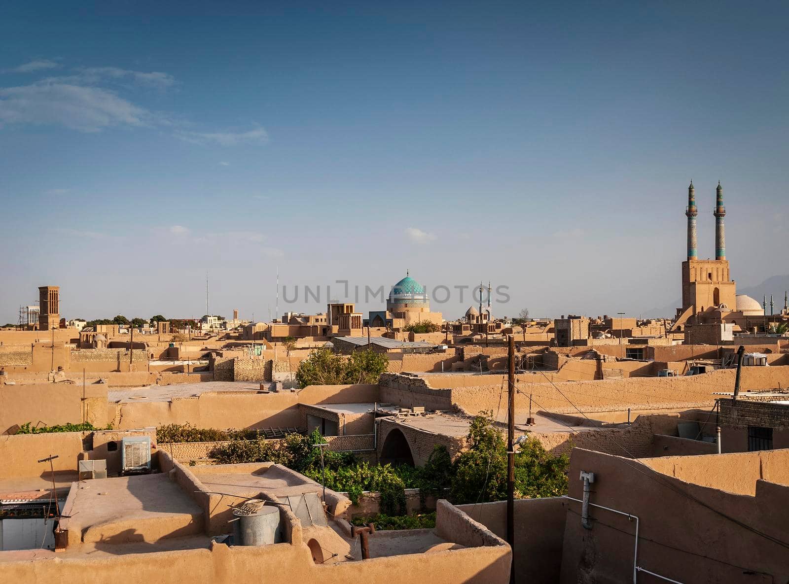
[[[300,527],[297,532],[292,544],[216,544],[210,549],[102,557],[43,554],[47,557],[36,561],[6,562],[2,572],[9,582],[59,584],[183,584],[185,575],[210,575],[213,584],[260,584],[261,573],[281,584],[386,582],[394,574],[402,584],[506,584],[509,579],[510,550],[506,545],[316,564],[302,541]],[[478,542],[477,535],[475,545]]]

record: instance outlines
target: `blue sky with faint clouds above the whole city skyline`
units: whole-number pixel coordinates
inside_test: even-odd
[[[690,178],[701,257],[720,179],[733,277],[789,272],[786,3],[426,4],[4,8],[0,321],[44,284],[68,318],[199,317],[206,271],[211,312],[266,318],[278,267],[645,314]]]

